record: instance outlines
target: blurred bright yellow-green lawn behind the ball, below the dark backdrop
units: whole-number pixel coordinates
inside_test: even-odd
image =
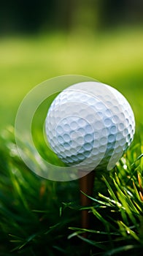
[[[121,91],[142,120],[142,28],[93,34],[7,37],[0,41],[2,116],[14,124],[18,105],[30,89],[58,75],[86,75]]]

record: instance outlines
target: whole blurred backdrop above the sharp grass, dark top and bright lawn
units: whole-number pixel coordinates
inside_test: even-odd
[[[21,0],[0,4],[0,129],[43,80],[86,75],[117,88],[143,114],[143,1]]]

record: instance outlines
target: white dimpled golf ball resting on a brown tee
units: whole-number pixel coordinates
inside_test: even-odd
[[[134,138],[134,113],[119,91],[104,83],[76,83],[53,100],[47,140],[66,165],[112,169]]]

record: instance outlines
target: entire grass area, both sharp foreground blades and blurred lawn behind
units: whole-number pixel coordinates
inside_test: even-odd
[[[1,39],[0,255],[142,255],[142,45],[139,28],[87,37]],[[87,75],[115,86],[136,116],[131,148],[113,170],[96,172],[89,230],[80,228],[78,181],[36,176],[18,155],[13,127],[6,129],[14,124],[18,105],[32,87],[66,74]],[[47,158],[40,139],[39,135],[36,147]],[[58,164],[56,157],[50,158]],[[87,238],[81,236],[85,231]]]

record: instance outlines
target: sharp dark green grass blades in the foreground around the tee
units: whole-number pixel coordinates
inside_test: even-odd
[[[80,228],[78,181],[48,181],[28,170],[12,127],[1,145],[0,255],[141,255],[143,145],[137,135],[113,170],[96,172],[89,230]]]

